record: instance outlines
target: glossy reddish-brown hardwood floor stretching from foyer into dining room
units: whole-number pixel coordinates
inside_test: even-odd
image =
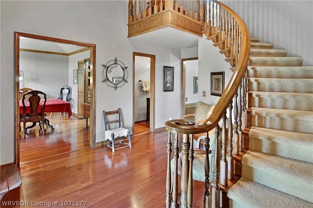
[[[70,201],[89,208],[165,207],[168,132],[134,136],[132,148],[112,153],[106,145],[86,147],[85,120],[61,121],[55,125],[58,131],[44,138],[26,137],[22,185],[3,196],[1,207],[19,207],[4,206],[16,201],[29,207],[69,207]],[[202,207],[203,191],[204,183],[194,180],[196,208]]]

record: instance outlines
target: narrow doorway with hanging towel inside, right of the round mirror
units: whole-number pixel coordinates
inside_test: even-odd
[[[133,54],[133,134],[155,132],[155,55]]]

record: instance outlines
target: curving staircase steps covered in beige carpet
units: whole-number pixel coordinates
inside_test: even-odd
[[[248,150],[233,208],[313,208],[313,67],[251,38]]]

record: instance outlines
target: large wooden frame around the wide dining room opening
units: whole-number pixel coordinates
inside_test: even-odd
[[[40,40],[47,40],[53,42],[60,42],[60,43],[67,43],[67,44],[74,44],[83,47],[90,48],[90,58],[92,61],[90,62],[90,72],[92,76],[90,77],[90,129],[89,129],[89,146],[95,147],[95,127],[96,127],[96,96],[95,96],[95,78],[96,78],[96,45],[91,43],[85,42],[78,42],[73,40],[67,39],[60,39],[60,38],[51,38],[46,36],[38,36],[33,34],[15,32],[15,77],[19,77],[20,72],[20,37],[25,38],[34,38]],[[20,102],[19,102],[19,87],[20,81],[17,78],[15,81],[15,159],[14,163],[20,166]]]

